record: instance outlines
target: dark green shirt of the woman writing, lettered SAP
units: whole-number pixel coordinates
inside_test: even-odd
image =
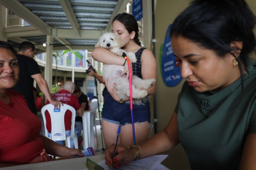
[[[219,92],[183,84],[174,112],[178,137],[192,169],[238,169],[248,133],[256,133],[256,63]]]

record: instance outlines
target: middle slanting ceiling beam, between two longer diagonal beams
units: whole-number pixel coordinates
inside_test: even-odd
[[[75,33],[77,35],[80,36],[80,34],[79,34],[80,26],[77,22],[77,19],[76,19],[75,13],[73,11],[73,8],[70,4],[70,1],[69,0],[61,0],[59,2],[63,8],[63,11],[66,13],[68,21],[70,22],[70,25],[72,26],[73,30],[75,31]]]

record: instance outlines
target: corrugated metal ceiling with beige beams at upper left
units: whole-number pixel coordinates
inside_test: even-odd
[[[88,49],[104,32],[111,31],[113,18],[124,12],[129,0],[0,0],[0,4],[28,22],[28,26],[7,26],[4,33],[18,46],[31,41],[44,52],[47,36],[55,49]],[[10,15],[9,15],[10,16]],[[9,18],[9,22],[10,22]],[[39,51],[39,52],[40,52]]]

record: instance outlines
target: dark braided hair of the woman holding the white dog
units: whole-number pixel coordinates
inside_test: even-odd
[[[128,31],[128,33],[132,33],[132,31],[135,32],[135,36],[133,40],[136,42],[136,44],[140,46],[141,43],[139,41],[139,26],[136,19],[133,17],[133,15],[127,14],[127,13],[118,14],[113,19],[113,22],[115,20],[121,22],[124,25],[125,29]]]

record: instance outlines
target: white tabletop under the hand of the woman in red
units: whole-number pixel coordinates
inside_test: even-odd
[[[98,163],[104,159],[104,155],[96,155],[90,157],[82,157],[82,158],[74,158],[74,159],[65,159],[65,160],[57,160],[51,162],[42,162],[36,164],[26,164],[26,165],[18,165],[18,166],[9,166],[0,168],[1,170],[10,170],[10,169],[26,169],[26,170],[81,170],[86,168],[86,159],[89,158],[92,161]]]

